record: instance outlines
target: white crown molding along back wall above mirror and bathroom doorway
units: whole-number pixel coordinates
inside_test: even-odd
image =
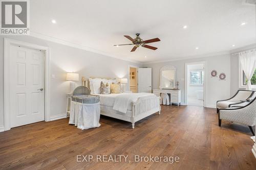
[[[210,53],[210,54],[202,54],[197,56],[188,56],[188,57],[179,57],[169,60],[158,60],[158,61],[151,61],[151,62],[143,62],[143,64],[154,64],[154,63],[163,63],[163,62],[170,62],[170,61],[179,61],[179,60],[189,60],[189,59],[196,59],[196,58],[206,58],[206,57],[212,57],[212,56],[221,56],[221,55],[227,55],[230,54],[229,51],[223,51],[219,53]]]

